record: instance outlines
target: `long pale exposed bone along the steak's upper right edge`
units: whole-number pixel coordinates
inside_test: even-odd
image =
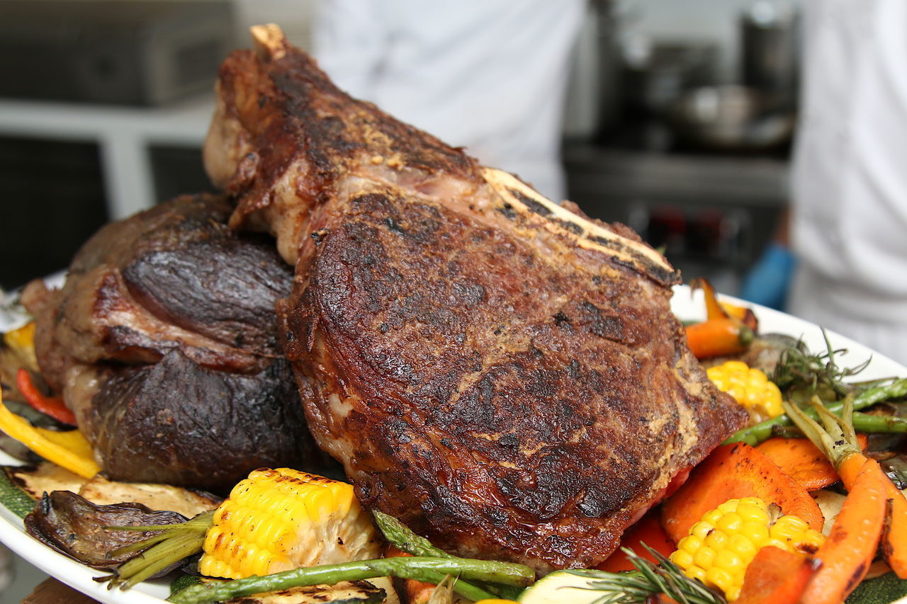
[[[677,271],[668,260],[646,244],[627,239],[561,208],[509,172],[483,168],[482,175],[501,196],[502,205],[509,203],[526,217],[536,216],[544,229],[568,235],[583,248],[598,249],[621,266],[633,268],[659,283],[669,285],[678,280]]]

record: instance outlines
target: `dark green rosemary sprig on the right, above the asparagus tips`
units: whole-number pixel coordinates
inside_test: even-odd
[[[872,356],[860,365],[840,367],[835,362],[835,356],[846,354],[847,349],[835,349],[824,329],[822,336],[825,340],[825,352],[823,353],[810,354],[802,340],[796,346],[791,346],[781,353],[781,358],[772,374],[772,381],[782,392],[803,390],[807,398],[817,394],[822,387],[830,389],[835,398],[843,398],[853,392],[853,385],[844,382],[844,379],[863,371],[866,365],[869,365]]]

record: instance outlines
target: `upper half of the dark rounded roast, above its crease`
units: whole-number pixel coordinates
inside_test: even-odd
[[[230,209],[222,197],[184,196],[89,239],[54,304],[37,314],[48,384],[63,388],[61,349],[73,362],[147,364],[179,348],[250,373],[279,356],[273,308],[291,272],[267,239],[227,227]]]

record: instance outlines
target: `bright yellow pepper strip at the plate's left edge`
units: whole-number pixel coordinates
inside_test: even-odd
[[[54,432],[35,428],[24,417],[6,408],[3,395],[0,395],[0,430],[48,462],[56,463],[83,478],[91,478],[101,472],[101,467],[94,462],[92,445],[85,440],[81,432],[78,430]]]

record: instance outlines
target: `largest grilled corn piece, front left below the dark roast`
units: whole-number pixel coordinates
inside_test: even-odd
[[[202,549],[200,573],[227,579],[381,554],[352,485],[288,468],[256,470],[233,487]]]

